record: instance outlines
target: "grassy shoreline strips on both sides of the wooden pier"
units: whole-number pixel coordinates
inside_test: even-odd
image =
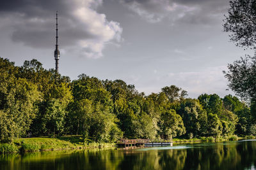
[[[255,139],[255,136],[230,136],[227,138],[193,138],[193,139],[173,139],[174,145],[184,143],[216,143],[223,141],[237,141],[241,139]],[[116,143],[88,143],[83,144],[80,136],[62,136],[60,138],[19,138],[15,139],[13,143],[0,143],[0,155],[12,153],[29,153],[29,152],[50,152],[60,150],[90,150],[93,148],[106,149],[117,148]]]

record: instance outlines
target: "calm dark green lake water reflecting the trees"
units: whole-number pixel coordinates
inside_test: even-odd
[[[256,141],[0,155],[0,169],[256,169]]]

